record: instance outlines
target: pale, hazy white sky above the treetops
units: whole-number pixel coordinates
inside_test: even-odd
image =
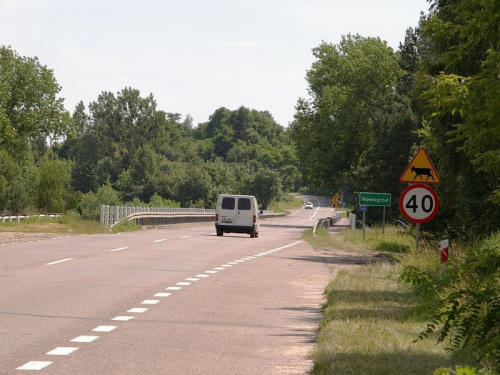
[[[293,121],[312,49],[343,35],[394,50],[427,0],[0,0],[0,45],[54,72],[68,111],[126,87],[196,126],[241,106]]]

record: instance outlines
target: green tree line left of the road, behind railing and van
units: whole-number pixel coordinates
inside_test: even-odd
[[[288,131],[269,112],[219,108],[194,127],[128,87],[69,115],[53,72],[10,47],[0,77],[0,212],[213,208],[220,193],[253,194],[266,208],[300,184]]]

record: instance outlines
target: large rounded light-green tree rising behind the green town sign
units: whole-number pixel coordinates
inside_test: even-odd
[[[348,35],[313,49],[310,100],[300,99],[291,135],[310,182],[328,190],[352,186],[352,170],[376,141],[376,109],[394,96],[402,74],[394,51],[378,38]]]

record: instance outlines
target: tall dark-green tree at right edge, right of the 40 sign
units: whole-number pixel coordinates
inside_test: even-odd
[[[421,21],[420,134],[442,180],[440,220],[430,225],[453,237],[488,234],[500,223],[492,204],[500,203],[498,14],[496,1],[440,0]]]

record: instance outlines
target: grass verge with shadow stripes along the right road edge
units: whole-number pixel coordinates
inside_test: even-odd
[[[409,315],[414,294],[399,282],[407,258],[433,257],[439,252],[413,250],[412,236],[395,229],[360,230],[329,235],[306,233],[315,247],[342,250],[374,259],[390,258],[362,267],[338,271],[326,289],[327,302],[314,350],[314,374],[432,374],[439,367],[469,363],[467,354],[452,356],[437,338],[414,340],[426,323]],[[425,255],[424,255],[425,254]],[[421,260],[422,261],[422,260]]]

